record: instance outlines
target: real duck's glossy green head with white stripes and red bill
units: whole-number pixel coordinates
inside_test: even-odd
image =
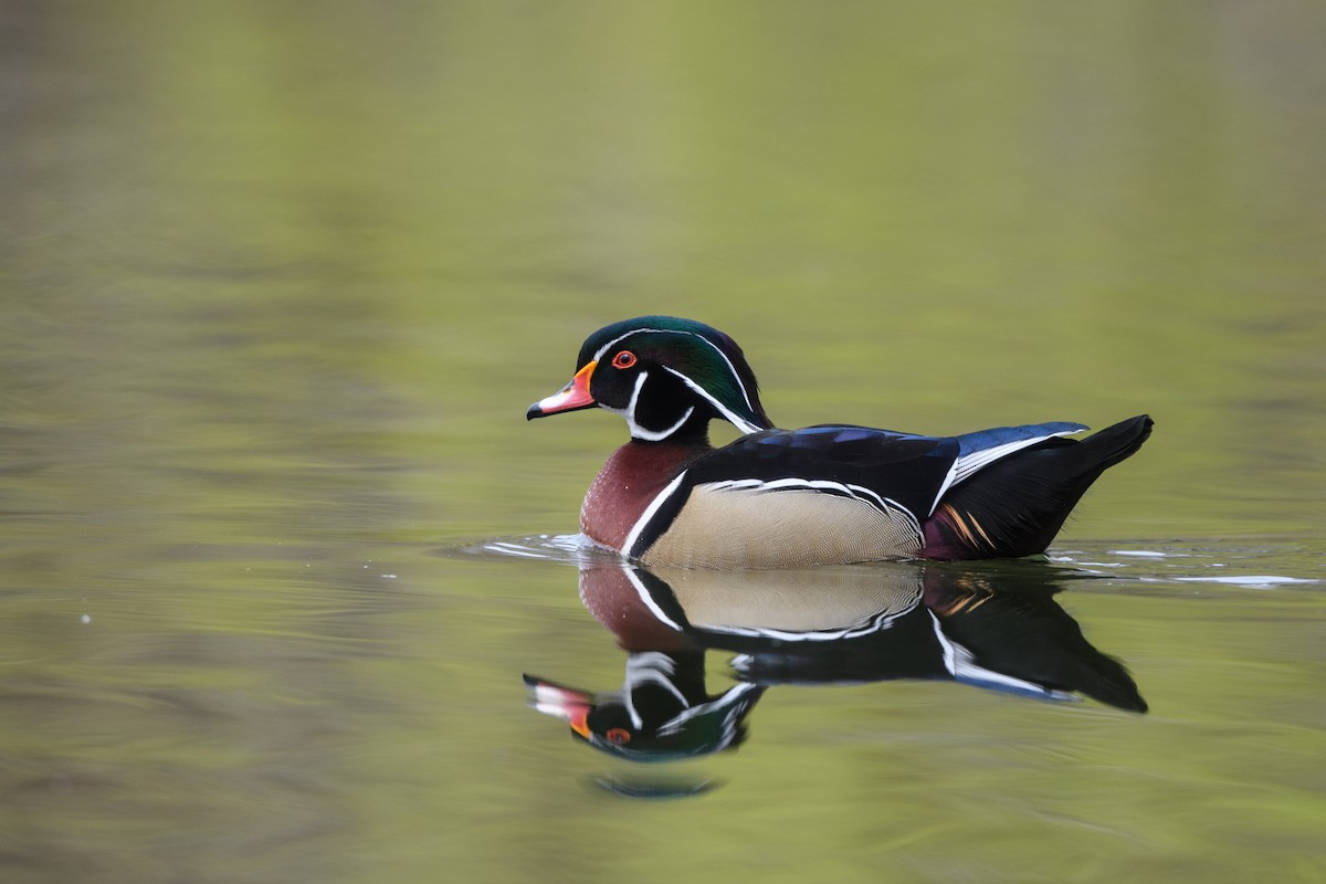
[[[717,329],[675,317],[599,329],[581,347],[570,383],[525,416],[595,406],[622,415],[639,441],[703,436],[715,417],[744,433],[773,427],[741,347]]]

